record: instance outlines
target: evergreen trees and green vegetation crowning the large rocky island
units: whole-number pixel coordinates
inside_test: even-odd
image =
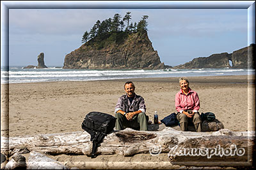
[[[100,22],[97,22],[93,25],[90,32],[85,31],[82,43],[85,43],[86,46],[91,46],[93,49],[101,50],[106,46],[111,44],[120,45],[127,39],[129,34],[142,33],[147,31],[147,15],[143,15],[141,20],[138,22],[131,21],[131,12],[127,12],[123,20],[121,20],[121,15],[116,13],[113,18],[108,18]],[[126,22],[127,24],[125,25]],[[125,29],[124,29],[125,28]]]

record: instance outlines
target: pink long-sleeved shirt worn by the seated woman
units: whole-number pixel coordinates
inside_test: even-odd
[[[189,88],[188,94],[184,94],[182,89],[175,95],[175,108],[177,111],[193,110],[197,112],[200,108],[198,94]]]

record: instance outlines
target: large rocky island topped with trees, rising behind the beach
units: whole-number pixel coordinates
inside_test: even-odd
[[[124,21],[129,17],[128,12]],[[163,69],[164,63],[148,38],[147,18],[144,15],[131,25],[128,20],[124,31],[118,14],[98,20],[90,33],[84,32],[85,43],[65,56],[63,69]]]

